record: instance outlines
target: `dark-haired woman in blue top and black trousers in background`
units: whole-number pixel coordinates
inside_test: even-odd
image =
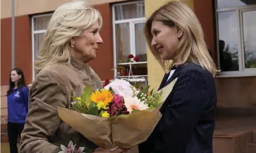
[[[28,113],[28,94],[23,71],[20,68],[12,69],[9,90],[7,91],[7,130],[10,153],[18,153],[17,140],[24,128]]]

